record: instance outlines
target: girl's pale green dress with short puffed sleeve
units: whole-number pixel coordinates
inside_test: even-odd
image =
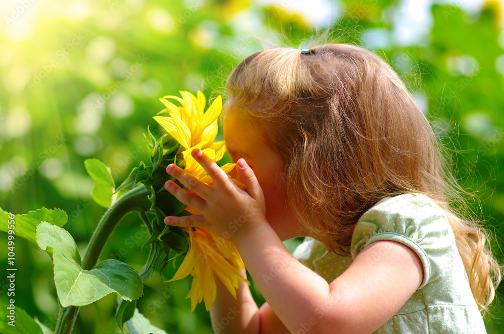
[[[422,261],[424,279],[374,333],[486,333],[446,214],[423,194],[385,197],[367,210],[355,225],[348,257],[328,253],[322,242],[310,237],[293,256],[331,283],[364,247],[378,240],[413,249]]]

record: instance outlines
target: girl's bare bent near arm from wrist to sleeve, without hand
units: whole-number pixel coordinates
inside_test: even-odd
[[[267,222],[254,225],[257,228],[237,234],[235,245],[250,276],[290,332],[372,333],[423,280],[422,263],[411,248],[382,240],[365,247],[328,284],[292,257]]]

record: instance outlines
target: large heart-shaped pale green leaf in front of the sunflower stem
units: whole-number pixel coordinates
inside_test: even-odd
[[[125,263],[109,259],[83,270],[77,245],[65,229],[42,222],[37,226],[37,242],[53,254],[54,283],[63,307],[88,305],[112,292],[124,300],[142,295],[140,276]]]

